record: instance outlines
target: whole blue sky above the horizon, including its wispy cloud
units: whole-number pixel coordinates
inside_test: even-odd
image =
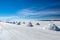
[[[60,0],[0,0],[0,16],[60,18]]]

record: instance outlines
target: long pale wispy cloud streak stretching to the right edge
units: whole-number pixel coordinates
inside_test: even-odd
[[[28,9],[23,9],[19,12],[17,12],[20,15],[23,16],[29,16],[29,15],[40,15],[40,16],[44,16],[44,15],[50,15],[50,14],[60,14],[60,11],[32,11],[32,10],[28,10]]]

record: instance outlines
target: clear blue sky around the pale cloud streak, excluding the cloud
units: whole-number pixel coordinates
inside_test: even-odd
[[[35,7],[35,8],[34,8]],[[33,11],[60,11],[60,0],[0,0],[0,16],[21,16],[17,14],[17,11],[30,8]],[[41,9],[42,8],[42,9]],[[40,13],[41,14],[41,13]],[[22,15],[24,16],[24,15]],[[22,17],[21,16],[21,17]],[[57,15],[45,15],[35,17],[37,15],[29,15],[26,18],[44,18],[44,17],[55,17],[60,18],[60,12]],[[22,17],[23,18],[23,17]]]

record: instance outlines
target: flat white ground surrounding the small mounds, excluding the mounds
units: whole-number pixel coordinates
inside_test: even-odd
[[[60,32],[46,30],[49,22],[39,22],[39,26],[35,25],[36,22],[39,21],[32,21],[34,27],[0,22],[0,40],[60,40]],[[54,23],[59,26],[59,23]]]

